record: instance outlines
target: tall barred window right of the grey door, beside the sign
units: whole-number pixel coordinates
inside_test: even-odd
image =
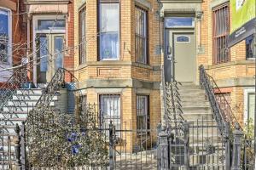
[[[230,33],[230,9],[225,4],[213,9],[213,64],[230,61],[228,37]]]

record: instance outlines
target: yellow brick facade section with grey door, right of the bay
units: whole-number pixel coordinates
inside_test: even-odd
[[[168,47],[171,46],[176,62],[172,72],[176,79],[198,84],[198,67],[204,65],[229,100],[238,122],[244,124],[248,117],[253,118],[253,35],[234,47],[227,48],[232,19],[230,1],[160,2],[164,17],[164,37],[167,39],[165,55],[169,55]],[[189,49],[189,52],[182,49]]]

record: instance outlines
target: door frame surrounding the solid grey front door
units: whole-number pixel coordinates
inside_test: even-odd
[[[195,28],[194,27],[191,27],[191,28],[165,28],[165,63],[168,62],[168,60],[170,59],[167,59],[168,56],[167,56],[167,50],[168,50],[168,46],[171,46],[172,47],[172,57],[170,59],[169,62],[171,62],[171,68],[169,69],[165,69],[165,72],[166,71],[170,71],[171,72],[171,79],[166,80],[166,82],[170,82],[172,80],[172,77],[174,77],[175,79],[175,56],[174,56],[174,53],[175,53],[175,48],[174,48],[174,35],[175,34],[193,34],[194,35],[194,46],[195,46],[195,68],[196,68],[196,65],[197,65],[197,59],[196,59],[196,35],[195,35]],[[172,41],[169,41],[170,37],[172,37]],[[172,42],[172,44],[170,44],[170,42]],[[196,81],[196,69],[195,69],[195,78],[194,78],[194,81]]]

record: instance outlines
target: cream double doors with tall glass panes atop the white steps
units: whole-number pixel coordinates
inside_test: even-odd
[[[38,34],[38,83],[50,82],[58,68],[63,67],[62,34]]]

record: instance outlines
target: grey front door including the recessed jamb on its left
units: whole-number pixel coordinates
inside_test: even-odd
[[[172,77],[178,82],[195,82],[194,32],[166,30],[166,59],[172,61]]]

